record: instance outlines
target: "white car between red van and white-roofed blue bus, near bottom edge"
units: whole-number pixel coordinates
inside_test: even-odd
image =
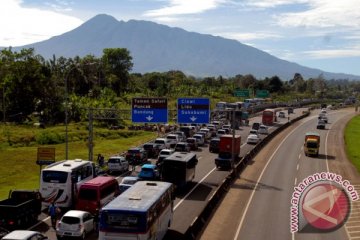
[[[71,237],[85,239],[95,229],[94,216],[86,211],[67,211],[56,225],[58,239]]]

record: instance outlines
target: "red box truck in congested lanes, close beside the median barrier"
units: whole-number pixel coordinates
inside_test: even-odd
[[[240,145],[241,136],[234,135],[234,148],[233,148],[233,135],[225,134],[220,137],[219,154],[215,158],[215,165],[217,168],[232,168],[240,159]]]

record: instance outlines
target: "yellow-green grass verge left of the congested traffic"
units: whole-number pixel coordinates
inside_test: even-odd
[[[38,147],[54,147],[55,160],[65,159],[65,143],[40,145],[41,134],[56,133],[64,139],[64,126],[38,129],[32,126],[0,126],[0,199],[7,198],[11,189],[38,189],[40,167],[36,165]],[[82,124],[68,126],[69,159],[88,159],[86,139],[88,131]],[[94,159],[98,153],[105,159],[128,148],[138,146],[156,137],[154,132],[108,130],[94,127]]]

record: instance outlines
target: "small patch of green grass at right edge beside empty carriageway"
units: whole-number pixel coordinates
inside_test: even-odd
[[[360,115],[351,119],[345,128],[346,153],[360,172]]]

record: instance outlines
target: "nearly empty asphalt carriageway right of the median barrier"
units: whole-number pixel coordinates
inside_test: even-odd
[[[309,175],[336,170],[329,169],[329,162],[339,157],[338,152],[330,154],[329,149],[339,146],[328,145],[328,136],[330,132],[341,135],[341,128],[332,127],[353,111],[328,113],[326,130],[316,130],[317,113],[284,130],[254,158],[231,187],[200,239],[350,239],[345,226],[328,233],[308,226],[300,232],[290,232],[294,187]],[[321,134],[317,158],[304,154],[304,135],[308,131]]]

